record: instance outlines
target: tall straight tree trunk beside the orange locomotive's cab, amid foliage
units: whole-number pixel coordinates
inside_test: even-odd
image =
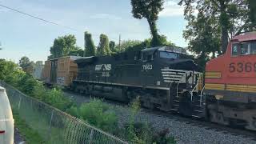
[[[221,10],[221,15],[220,15],[220,24],[221,24],[221,29],[222,29],[222,53],[226,52],[226,47],[228,45],[228,16],[226,14],[226,4],[224,1],[220,2],[220,10]]]

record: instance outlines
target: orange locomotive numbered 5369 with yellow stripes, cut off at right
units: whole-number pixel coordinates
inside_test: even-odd
[[[235,36],[206,63],[204,93],[211,122],[256,130],[256,33]]]

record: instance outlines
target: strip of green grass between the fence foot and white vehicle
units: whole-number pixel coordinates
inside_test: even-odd
[[[20,118],[18,115],[18,112],[13,110],[14,114],[14,125],[15,127],[18,127],[19,133],[22,135],[23,138],[25,138],[26,143],[28,144],[40,144],[40,143],[46,143],[43,141],[43,139],[40,137],[40,135],[33,129],[30,128],[26,124],[26,122]]]

